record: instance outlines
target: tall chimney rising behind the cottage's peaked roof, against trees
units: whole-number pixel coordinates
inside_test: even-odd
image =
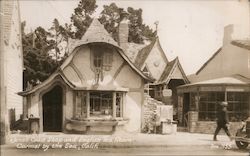
[[[121,22],[118,30],[119,46],[126,51],[128,49],[129,20],[126,12],[121,13]]]

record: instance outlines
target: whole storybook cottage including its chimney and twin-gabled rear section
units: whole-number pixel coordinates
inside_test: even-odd
[[[117,43],[94,19],[60,68],[20,93],[24,116],[39,118],[40,132],[141,132],[145,92],[177,106],[176,87],[188,82],[178,58],[168,61],[158,37],[129,43],[128,24],[120,22]],[[164,101],[164,89],[172,89],[174,100]]]

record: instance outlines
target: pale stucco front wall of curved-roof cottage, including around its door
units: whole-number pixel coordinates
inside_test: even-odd
[[[73,65],[72,65],[73,64]],[[90,49],[87,46],[82,46],[72,58],[71,62],[63,69],[65,76],[75,84],[77,87],[90,87],[94,82],[94,71],[90,65]],[[62,83],[63,80],[60,80]],[[55,82],[52,81],[46,86],[38,89],[31,98],[31,106],[29,108],[29,115],[33,114],[34,117],[42,119],[42,94],[50,91]],[[126,88],[128,92],[124,99],[123,114],[128,118],[124,130],[128,132],[140,132],[141,127],[141,109],[143,105],[143,89],[144,80],[136,73],[127,62],[117,52],[113,52],[113,63],[110,71],[104,71],[104,79],[100,81],[99,85],[105,88]],[[64,120],[73,117],[73,90],[65,86],[65,104],[63,105]],[[39,101],[40,96],[40,101]],[[42,124],[42,121],[40,121]],[[41,128],[42,130],[42,128]]]

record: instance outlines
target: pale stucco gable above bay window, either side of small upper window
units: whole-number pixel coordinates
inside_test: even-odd
[[[71,63],[74,64],[76,70],[69,64],[64,68],[65,76],[75,85],[87,87],[94,85],[95,74],[90,65],[90,48],[82,46],[73,57]],[[115,85],[124,88],[141,87],[142,78],[126,63],[117,51],[113,51],[113,62],[110,71],[103,72],[103,80],[99,82],[101,86]],[[121,70],[118,71],[117,70]],[[79,72],[77,74],[77,71]],[[82,76],[82,78],[81,78]],[[117,76],[114,80],[114,77]],[[132,81],[131,81],[132,80]]]

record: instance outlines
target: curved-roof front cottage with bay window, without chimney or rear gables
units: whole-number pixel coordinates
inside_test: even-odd
[[[140,132],[144,85],[152,79],[97,19],[72,49],[47,80],[20,93],[24,115],[40,119],[40,132]]]

